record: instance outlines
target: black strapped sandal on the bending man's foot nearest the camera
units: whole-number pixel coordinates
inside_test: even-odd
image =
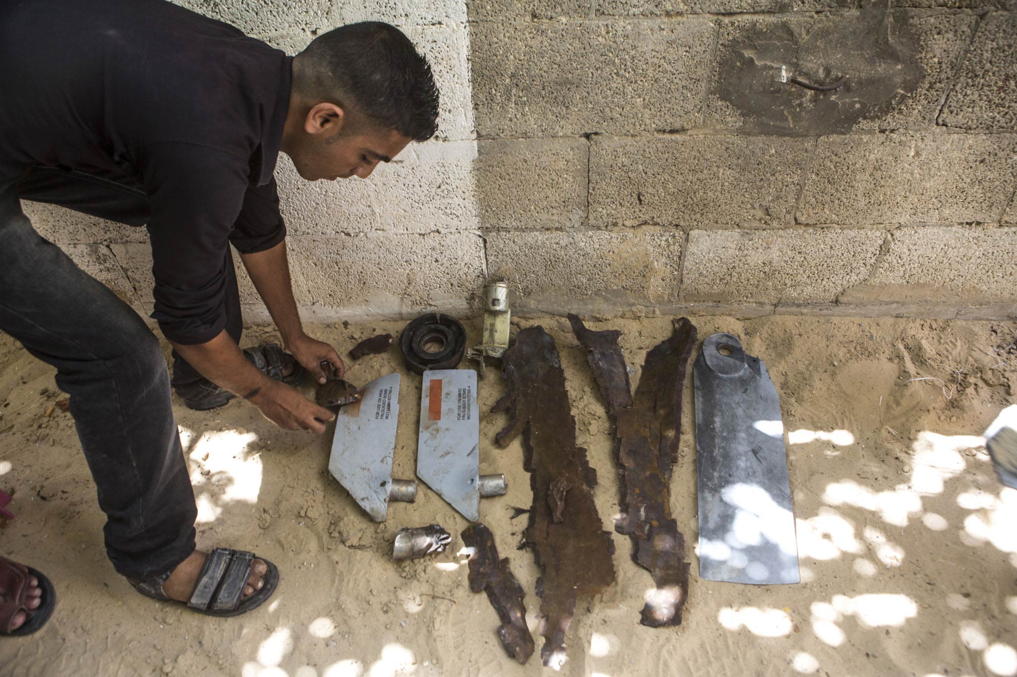
[[[207,616],[239,616],[261,606],[276,592],[279,585],[279,569],[264,557],[258,557],[265,564],[261,577],[261,588],[244,597],[244,588],[250,579],[254,565],[254,553],[232,548],[216,548],[208,553],[204,566],[197,577],[197,585],[186,604],[188,608]],[[163,591],[163,584],[172,571],[153,577],[147,581],[131,581],[134,590],[145,597],[161,602],[171,600]]]

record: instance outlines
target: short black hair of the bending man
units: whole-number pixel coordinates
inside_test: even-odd
[[[396,26],[340,26],[311,41],[298,59],[302,95],[353,108],[415,141],[437,131],[438,88],[430,64]]]

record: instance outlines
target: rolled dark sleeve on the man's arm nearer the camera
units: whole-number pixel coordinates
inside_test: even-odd
[[[226,327],[227,257],[248,193],[247,163],[187,143],[144,150],[139,164],[152,201],[152,318],[171,341],[205,343]]]

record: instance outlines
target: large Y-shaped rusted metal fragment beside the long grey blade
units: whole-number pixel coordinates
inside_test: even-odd
[[[696,328],[685,318],[674,321],[671,337],[647,353],[634,399],[618,347],[621,333],[590,331],[575,315],[569,322],[590,351],[590,366],[614,425],[621,491],[615,531],[632,539],[633,560],[653,574],[657,586],[643,607],[641,622],[651,627],[678,625],[689,597],[689,563],[685,537],[671,519],[670,483]]]

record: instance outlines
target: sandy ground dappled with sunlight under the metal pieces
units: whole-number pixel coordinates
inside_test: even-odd
[[[1003,489],[978,437],[1017,401],[1017,324],[775,317],[694,319],[703,338],[741,337],[781,395],[802,583],[751,587],[698,578],[692,369],[671,507],[690,542],[691,597],[677,628],[638,623],[649,573],[614,535],[617,583],[582,608],[561,674],[1017,674],[1017,491]],[[517,326],[538,324],[522,321]],[[604,528],[617,514],[611,437],[599,393],[566,324],[555,337],[579,442],[600,476]],[[315,326],[341,351],[402,323]],[[670,331],[667,318],[593,322],[623,331],[639,366]],[[479,327],[469,326],[474,336]],[[253,328],[244,343],[271,336]],[[1007,349],[1007,346],[1010,346]],[[393,351],[351,365],[354,382],[403,370]],[[480,385],[481,472],[502,472],[506,496],[482,520],[525,590],[531,627],[537,569],[516,549],[531,502],[517,441],[491,442],[503,415],[496,371]],[[909,379],[930,379],[910,381]],[[419,378],[405,376],[396,475],[413,475]],[[0,552],[47,572],[59,606],[44,631],[0,639],[3,675],[521,675],[549,672],[503,654],[495,613],[467,586],[457,552],[465,521],[422,487],[371,523],[327,472],[331,431],[275,428],[231,403],[210,413],[175,402],[199,505],[198,544],[252,549],[282,582],[271,604],[214,619],[133,592],[106,559],[104,516],[53,370],[0,337],[0,487],[16,519]],[[439,523],[457,536],[436,557],[398,563],[404,526]],[[538,638],[538,647],[540,644]]]

